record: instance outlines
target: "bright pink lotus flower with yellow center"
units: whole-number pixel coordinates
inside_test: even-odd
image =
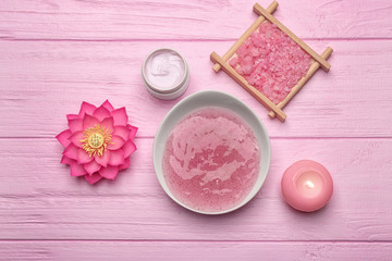
[[[99,108],[84,101],[79,113],[66,119],[69,129],[56,138],[65,147],[61,163],[71,166],[71,176],[95,184],[102,177],[114,179],[130,166],[137,127],[127,124],[125,108],[114,110],[108,100]]]

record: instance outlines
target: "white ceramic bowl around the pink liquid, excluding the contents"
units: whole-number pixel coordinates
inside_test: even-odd
[[[255,186],[248,194],[248,196],[236,207],[232,209],[228,209],[224,211],[219,212],[204,212],[199,210],[195,210],[193,208],[189,208],[188,206],[182,203],[179,201],[170,191],[163,176],[162,171],[162,157],[164,151],[164,146],[167,138],[170,135],[170,132],[173,129],[175,124],[181,121],[186,114],[193,112],[196,109],[204,108],[204,107],[221,107],[224,109],[229,109],[233,112],[235,112],[237,115],[240,115],[255,132],[259,148],[260,148],[260,172],[259,176],[255,183]],[[170,198],[172,198],[175,202],[177,202],[180,206],[195,211],[197,213],[201,214],[223,214],[231,211],[234,211],[244,204],[246,204],[253,197],[256,196],[256,194],[261,188],[270,165],[271,160],[271,147],[269,137],[267,134],[267,130],[261,123],[261,121],[258,119],[258,116],[252,111],[250,108],[248,108],[244,102],[238,100],[237,98],[216,90],[204,90],[196,94],[193,94],[182,101],[180,101],[177,104],[175,104],[172,110],[166,115],[163,119],[161,125],[158,128],[158,132],[156,134],[155,140],[154,140],[154,167],[158,176],[158,181],[160,185],[162,186],[163,190],[169,195]]]

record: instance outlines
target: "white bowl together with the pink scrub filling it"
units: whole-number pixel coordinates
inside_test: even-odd
[[[248,202],[270,163],[267,132],[252,110],[220,91],[200,91],[166,116],[154,142],[154,166],[179,204],[222,214]]]

